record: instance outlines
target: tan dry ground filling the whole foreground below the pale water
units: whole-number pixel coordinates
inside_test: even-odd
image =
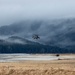
[[[75,75],[75,60],[4,62],[0,63],[0,75]]]

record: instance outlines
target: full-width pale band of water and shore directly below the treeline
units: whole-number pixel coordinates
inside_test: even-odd
[[[0,62],[75,60],[75,54],[0,54]]]

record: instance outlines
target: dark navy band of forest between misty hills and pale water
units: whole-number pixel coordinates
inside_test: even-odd
[[[49,45],[0,45],[0,53],[75,53],[75,50]]]

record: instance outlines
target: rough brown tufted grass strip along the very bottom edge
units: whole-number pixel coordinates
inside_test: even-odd
[[[63,69],[2,69],[0,75],[75,75],[75,71]]]

